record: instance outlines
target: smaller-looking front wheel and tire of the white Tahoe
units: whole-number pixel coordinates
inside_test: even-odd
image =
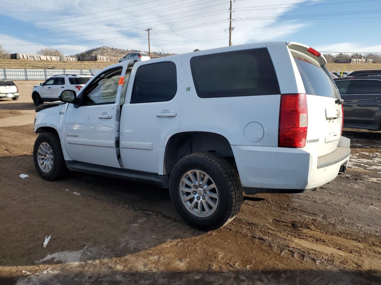
[[[33,161],[36,171],[45,180],[63,177],[66,164],[61,149],[61,142],[55,133],[41,133],[33,147]]]

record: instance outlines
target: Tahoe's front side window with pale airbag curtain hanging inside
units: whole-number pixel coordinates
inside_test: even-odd
[[[118,67],[99,74],[92,84],[86,88],[81,105],[115,103],[121,73],[122,67]]]

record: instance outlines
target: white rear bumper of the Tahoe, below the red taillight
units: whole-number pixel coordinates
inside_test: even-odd
[[[342,137],[338,149],[319,158],[304,149],[257,146],[232,146],[232,149],[245,193],[301,193],[335,179],[343,169],[341,165],[349,160],[349,143],[349,139]]]

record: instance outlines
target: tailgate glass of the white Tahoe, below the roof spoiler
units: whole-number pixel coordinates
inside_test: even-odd
[[[292,52],[307,94],[339,98],[335,84],[316,62],[305,55]]]

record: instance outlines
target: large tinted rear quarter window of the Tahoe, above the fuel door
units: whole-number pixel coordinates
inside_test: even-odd
[[[280,94],[267,48],[195,56],[191,70],[201,98]]]

